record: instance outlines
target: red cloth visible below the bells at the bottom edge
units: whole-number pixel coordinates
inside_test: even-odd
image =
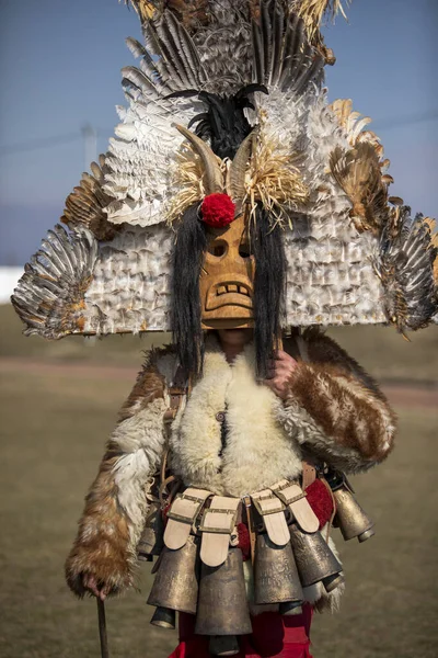
[[[302,614],[283,616],[264,612],[252,617],[253,632],[239,638],[237,658],[312,658],[310,623],[312,608],[304,604]],[[210,658],[209,638],[195,635],[195,616],[180,613],[180,645],[169,658]]]

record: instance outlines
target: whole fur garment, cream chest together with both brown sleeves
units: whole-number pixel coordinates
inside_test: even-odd
[[[235,497],[296,477],[304,451],[347,474],[385,458],[395,420],[376,383],[327,337],[307,331],[301,340],[306,360],[293,341],[285,343],[298,360],[285,401],[255,381],[251,345],[230,365],[216,340],[208,341],[204,376],[173,423],[170,445],[163,417],[175,355],[172,350],[148,355],[67,558],[67,581],[76,594],[85,593],[83,574],[105,583],[110,593],[134,583],[149,484],[168,447],[172,469],[186,485]],[[223,446],[218,415],[224,411]]]

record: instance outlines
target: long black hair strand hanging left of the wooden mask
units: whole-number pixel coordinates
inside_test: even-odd
[[[199,275],[207,247],[198,204],[184,213],[173,251],[172,332],[180,364],[187,375],[203,370],[204,341],[200,328]]]

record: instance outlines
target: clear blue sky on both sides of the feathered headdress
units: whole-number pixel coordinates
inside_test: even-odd
[[[81,126],[106,150],[124,104],[119,71],[134,61],[125,37],[140,30],[117,0],[0,0],[0,264],[22,264],[85,168]],[[438,2],[355,0],[348,19],[325,30],[337,57],[330,98],[373,118],[392,194],[437,216]]]

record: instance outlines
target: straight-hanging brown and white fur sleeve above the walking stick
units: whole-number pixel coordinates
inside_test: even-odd
[[[164,451],[168,404],[162,360],[162,351],[149,353],[85,498],[78,536],[66,561],[67,582],[79,597],[85,593],[83,574],[108,586],[111,593],[132,583],[147,511],[145,486]]]

